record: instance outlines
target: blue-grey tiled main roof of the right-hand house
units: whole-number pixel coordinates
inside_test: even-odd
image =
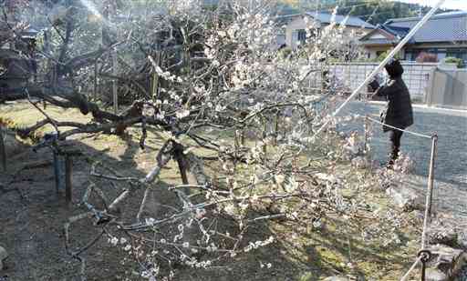
[[[392,29],[412,28],[420,17],[390,19],[384,24]],[[467,41],[467,13],[446,13],[434,15],[413,36],[416,43]]]

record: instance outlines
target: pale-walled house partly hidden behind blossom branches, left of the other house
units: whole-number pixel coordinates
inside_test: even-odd
[[[285,26],[282,33],[277,35],[277,45],[286,45],[294,49],[305,42],[306,20],[313,22],[318,26],[318,29],[321,29],[331,24],[332,15],[328,13],[307,12],[304,14],[277,16],[279,25]],[[374,25],[368,24],[357,16],[336,15],[334,21],[337,24],[344,24],[345,22],[346,28],[344,33],[348,35],[355,33],[358,37],[367,34],[375,28]]]

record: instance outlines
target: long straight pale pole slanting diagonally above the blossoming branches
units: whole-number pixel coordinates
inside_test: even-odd
[[[336,116],[342,110],[342,108],[344,108],[354,98],[354,96],[357,95],[361,91],[361,89],[365,85],[367,85],[371,81],[371,79],[373,79],[379,73],[379,71],[383,69],[385,65],[388,64],[389,60],[392,59],[394,55],[396,55],[400,51],[400,49],[402,49],[402,47],[407,44],[407,42],[409,42],[411,37],[415,35],[417,31],[419,31],[421,26],[423,26],[430,19],[431,15],[433,15],[436,12],[436,10],[438,10],[438,8],[444,3],[444,1],[445,0],[438,1],[438,3],[431,8],[430,12],[428,12],[427,15],[423,16],[423,18],[420,20],[420,22],[417,25],[415,25],[412,29],[410,29],[409,34],[406,35],[400,41],[400,43],[389,53],[389,55],[378,65],[378,67],[375,68],[373,72],[371,72],[371,74],[367,76],[365,81],[363,81],[360,85],[358,85],[358,88],[354,90],[352,95],[348,96],[348,99],[337,108],[333,116]],[[317,130],[315,135],[313,135],[313,138],[316,139],[317,135],[321,133],[327,127],[327,125],[329,125],[330,122],[331,122],[331,119],[328,119],[325,124],[321,125],[321,127]]]

